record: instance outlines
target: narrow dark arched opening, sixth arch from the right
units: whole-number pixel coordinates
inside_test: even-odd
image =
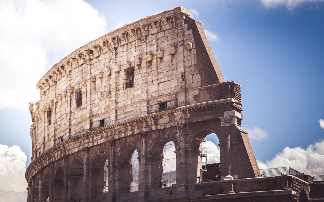
[[[64,170],[62,167],[59,167],[54,174],[53,181],[53,201],[63,201],[63,186],[64,182]]]

